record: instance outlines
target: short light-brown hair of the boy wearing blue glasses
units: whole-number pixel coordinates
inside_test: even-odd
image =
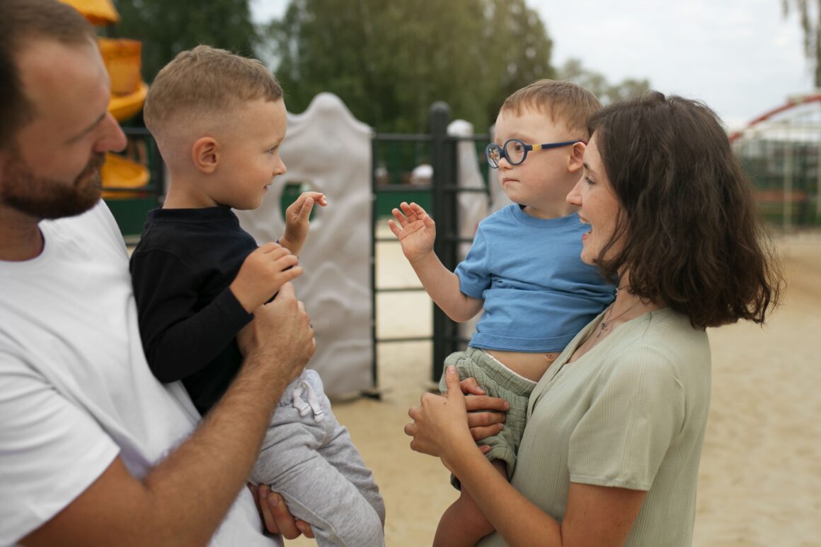
[[[516,116],[527,108],[547,114],[555,123],[562,123],[574,137],[589,139],[587,121],[602,107],[599,99],[587,89],[561,80],[537,80],[505,99],[499,113]]]

